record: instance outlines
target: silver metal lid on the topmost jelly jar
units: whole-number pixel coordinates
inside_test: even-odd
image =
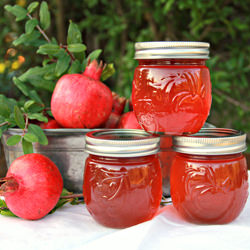
[[[208,59],[209,43],[159,41],[135,43],[135,59]]]

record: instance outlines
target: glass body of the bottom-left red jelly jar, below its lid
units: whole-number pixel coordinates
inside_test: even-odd
[[[151,219],[162,197],[156,155],[111,158],[90,155],[84,174],[84,198],[99,223],[125,228]]]

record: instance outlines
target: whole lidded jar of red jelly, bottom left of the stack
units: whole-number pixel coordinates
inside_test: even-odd
[[[83,196],[92,217],[112,228],[150,220],[162,198],[160,138],[143,130],[86,134]]]

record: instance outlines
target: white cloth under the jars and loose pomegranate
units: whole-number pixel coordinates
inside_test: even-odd
[[[226,225],[195,225],[172,205],[151,221],[111,229],[97,224],[85,205],[66,205],[38,221],[0,216],[1,249],[250,250],[250,199],[240,216]]]

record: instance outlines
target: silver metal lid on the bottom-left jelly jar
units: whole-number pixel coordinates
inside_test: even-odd
[[[109,157],[138,157],[156,154],[160,137],[144,130],[108,129],[86,134],[85,152]]]

